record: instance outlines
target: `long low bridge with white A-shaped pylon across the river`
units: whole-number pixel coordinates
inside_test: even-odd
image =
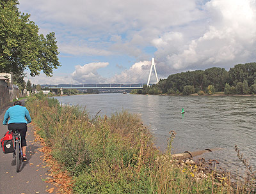
[[[159,82],[156,72],[155,59],[152,58],[147,86],[149,86],[153,67],[156,75],[156,80],[157,82]],[[61,94],[63,94],[63,89],[142,89],[143,85],[145,84],[59,84],[57,86],[49,86],[49,88],[60,89]]]

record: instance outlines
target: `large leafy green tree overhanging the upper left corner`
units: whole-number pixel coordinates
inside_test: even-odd
[[[51,76],[60,66],[54,33],[39,35],[38,26],[28,13],[19,12],[17,4],[17,0],[0,3],[0,71],[17,77],[24,77],[25,70],[31,76],[40,71]]]

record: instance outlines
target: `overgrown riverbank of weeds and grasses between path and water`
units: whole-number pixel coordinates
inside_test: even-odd
[[[119,112],[90,118],[86,110],[40,99],[30,98],[27,107],[40,129],[38,134],[51,147],[52,157],[72,176],[74,193],[234,191],[228,177],[220,181],[222,177],[217,179],[210,171],[207,177],[198,179],[202,175],[198,165],[182,168],[171,161],[172,144],[166,159],[154,147],[148,128],[137,115]]]

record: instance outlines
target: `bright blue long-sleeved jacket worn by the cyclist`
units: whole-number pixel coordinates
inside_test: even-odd
[[[10,117],[10,120],[8,121]],[[28,120],[26,120],[26,119]],[[20,105],[15,105],[13,107],[8,108],[4,114],[3,124],[10,123],[31,123],[31,117],[29,115],[28,109],[26,107],[22,107]]]

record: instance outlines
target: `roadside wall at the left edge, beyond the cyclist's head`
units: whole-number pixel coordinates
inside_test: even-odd
[[[14,84],[7,84],[4,80],[0,80],[0,108],[8,105],[13,98],[23,97],[19,91],[19,87]]]

